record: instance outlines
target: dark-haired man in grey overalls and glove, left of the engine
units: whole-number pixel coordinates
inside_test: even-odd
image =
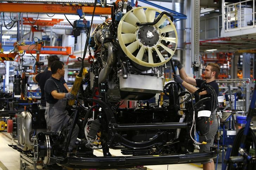
[[[68,92],[60,79],[64,76],[64,63],[62,61],[55,61],[51,65],[52,76],[45,82],[45,120],[47,124],[47,131],[58,132],[63,127],[71,122],[68,111],[65,109],[67,100],[75,99],[72,93]],[[70,125],[68,126],[68,130]],[[78,136],[79,127],[76,124],[72,132],[69,151],[75,146],[76,138]]]

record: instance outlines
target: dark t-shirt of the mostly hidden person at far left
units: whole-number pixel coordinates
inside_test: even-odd
[[[39,87],[40,87],[40,90],[41,90],[41,105],[44,106],[44,107],[46,106],[45,94],[44,94],[44,85],[45,85],[46,80],[48,80],[51,76],[52,76],[52,72],[50,70],[46,70],[46,71],[38,73],[36,75],[36,80],[37,80],[37,82],[39,84]],[[60,81],[63,84],[66,83],[66,81],[63,77],[60,79]]]

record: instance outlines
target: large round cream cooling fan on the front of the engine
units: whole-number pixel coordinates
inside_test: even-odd
[[[163,15],[155,25],[137,26],[136,23],[154,22],[158,9],[151,7],[138,7],[127,12],[119,22],[117,36],[124,53],[135,63],[146,67],[157,67],[167,63],[177,48],[178,35],[176,28],[167,17]],[[162,24],[169,23],[162,27]],[[175,37],[166,37],[166,33],[174,32]],[[175,44],[174,50],[168,48],[166,42]],[[165,59],[163,52],[171,54]]]

